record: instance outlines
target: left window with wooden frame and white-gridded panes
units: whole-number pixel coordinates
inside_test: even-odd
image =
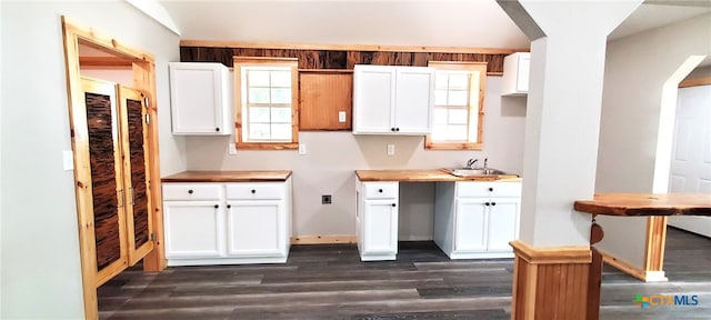
[[[297,149],[297,59],[234,57],[233,62],[237,147]]]

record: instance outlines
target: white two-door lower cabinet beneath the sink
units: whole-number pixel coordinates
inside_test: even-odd
[[[521,182],[438,182],[434,242],[451,259],[511,258]]]

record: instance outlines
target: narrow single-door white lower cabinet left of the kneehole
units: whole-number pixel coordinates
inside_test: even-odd
[[[395,260],[398,182],[356,181],[356,237],[361,261]]]

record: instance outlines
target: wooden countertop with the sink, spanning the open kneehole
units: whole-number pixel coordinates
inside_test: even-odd
[[[521,181],[519,176],[475,176],[457,177],[442,169],[437,170],[356,170],[360,181],[403,181],[403,182],[457,182],[457,181]]]

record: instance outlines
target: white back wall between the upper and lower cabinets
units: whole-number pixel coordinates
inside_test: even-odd
[[[307,156],[297,151],[238,150],[228,154],[229,137],[187,138],[191,170],[288,169],[293,171],[294,236],[356,233],[356,178],[361,169],[439,169],[461,167],[469,158],[520,173],[523,152],[524,98],[501,98],[501,78],[487,78],[483,151],[427,151],[422,137],[353,136],[349,132],[300,132]],[[162,123],[161,123],[162,124]],[[395,154],[387,156],[387,144]],[[481,163],[481,162],[480,162]],[[403,183],[401,239],[431,239],[434,211],[431,183]],[[420,198],[430,194],[430,198]],[[322,206],[321,194],[332,194]],[[409,233],[409,234],[405,234]]]

